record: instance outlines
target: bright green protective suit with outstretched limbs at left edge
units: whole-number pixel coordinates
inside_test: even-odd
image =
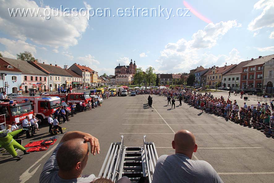
[[[16,142],[12,137],[22,132],[23,129],[15,130],[11,133],[0,132],[0,147],[5,148],[13,157],[17,156],[15,148],[19,150],[26,150],[18,142]]]

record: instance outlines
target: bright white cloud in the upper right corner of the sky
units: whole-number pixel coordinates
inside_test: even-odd
[[[255,10],[263,12],[248,24],[248,30],[256,31],[264,27],[274,27],[274,1],[260,0],[254,5]]]

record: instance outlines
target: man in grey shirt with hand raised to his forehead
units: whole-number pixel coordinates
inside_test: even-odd
[[[88,162],[89,148],[93,155],[99,154],[97,138],[83,132],[68,132],[45,163],[41,172],[40,183],[90,183],[96,180],[94,174],[81,175]],[[100,168],[100,167],[98,167]],[[119,183],[130,183],[128,177],[122,177]]]

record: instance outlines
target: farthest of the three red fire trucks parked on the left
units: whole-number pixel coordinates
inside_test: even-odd
[[[80,101],[84,101],[86,104],[86,107],[88,107],[88,101],[91,101],[91,97],[88,92],[84,93],[71,93],[71,94],[43,94],[40,95],[41,97],[51,97],[51,96],[57,96],[60,97],[62,100],[65,100],[69,104],[74,102],[76,104],[76,108],[79,110],[80,106],[79,103]]]

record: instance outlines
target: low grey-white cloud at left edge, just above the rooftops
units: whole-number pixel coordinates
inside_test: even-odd
[[[10,40],[7,38],[0,38],[0,43],[6,47],[5,51],[16,55],[20,52],[29,51],[34,55],[36,53],[36,46],[26,43],[23,40]]]

